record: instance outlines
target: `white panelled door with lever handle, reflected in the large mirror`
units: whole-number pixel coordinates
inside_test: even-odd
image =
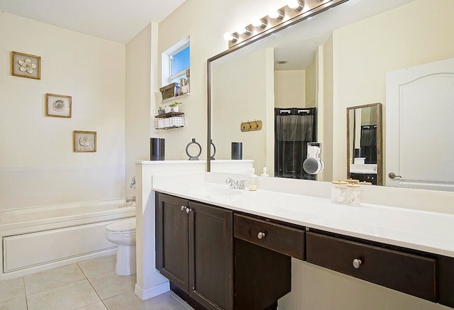
[[[454,191],[454,58],[387,72],[386,92],[386,185]]]

